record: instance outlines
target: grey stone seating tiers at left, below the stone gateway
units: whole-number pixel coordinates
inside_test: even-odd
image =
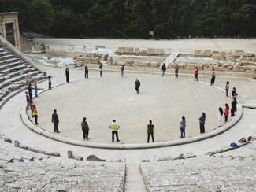
[[[0,39],[0,102],[28,83],[45,79],[46,72],[35,68],[15,47]]]

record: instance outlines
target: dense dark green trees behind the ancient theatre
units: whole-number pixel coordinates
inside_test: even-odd
[[[20,30],[56,37],[256,36],[255,0],[0,0]]]

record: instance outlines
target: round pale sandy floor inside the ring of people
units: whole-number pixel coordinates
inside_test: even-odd
[[[83,79],[82,69],[73,71],[74,78],[81,80],[54,87],[35,98],[39,127],[53,132],[50,118],[57,109],[60,135],[69,138],[83,139],[83,116],[91,127],[91,142],[111,142],[108,126],[113,119],[121,126],[121,143],[145,142],[148,120],[155,125],[156,142],[178,139],[182,116],[187,120],[186,136],[191,137],[199,134],[198,118],[202,112],[206,113],[206,132],[212,131],[217,128],[218,107],[231,102],[221,90],[196,83],[191,76],[175,79],[133,72],[121,78],[119,72],[104,72],[100,78],[98,71],[90,71],[90,78]],[[55,78],[58,76],[53,77],[53,84]],[[135,78],[141,82],[139,94],[135,93]]]

